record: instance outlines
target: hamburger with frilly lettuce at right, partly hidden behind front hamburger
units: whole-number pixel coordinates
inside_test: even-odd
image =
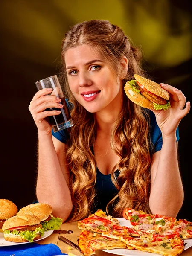
[[[57,230],[62,224],[60,218],[55,218],[52,215],[52,207],[45,203],[29,204],[23,207],[17,212],[17,215],[30,214],[37,216],[40,221],[44,231],[47,230]]]

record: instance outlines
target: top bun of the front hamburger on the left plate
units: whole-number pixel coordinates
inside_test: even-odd
[[[32,226],[40,224],[40,219],[36,217],[35,215],[20,215],[20,216],[13,216],[6,220],[6,222],[3,224],[3,231],[15,228],[22,227],[22,226]]]

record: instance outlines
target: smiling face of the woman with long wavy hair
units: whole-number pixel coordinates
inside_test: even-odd
[[[67,50],[65,63],[70,90],[87,111],[114,109],[116,101],[121,102],[121,79],[93,48],[81,45]]]

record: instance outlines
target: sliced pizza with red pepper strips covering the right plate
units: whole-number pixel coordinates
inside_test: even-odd
[[[146,214],[126,208],[123,217],[133,227],[120,226],[119,221],[102,210],[78,221],[83,231],[78,243],[85,256],[95,250],[126,248],[163,256],[178,256],[184,250],[183,239],[192,238],[192,222],[176,218]]]

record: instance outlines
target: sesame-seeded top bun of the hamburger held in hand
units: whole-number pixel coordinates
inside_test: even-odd
[[[163,89],[160,84],[155,83],[143,76],[134,75],[134,78],[142,84],[148,91],[154,93],[157,96],[162,97],[163,99],[169,100],[169,93]]]

